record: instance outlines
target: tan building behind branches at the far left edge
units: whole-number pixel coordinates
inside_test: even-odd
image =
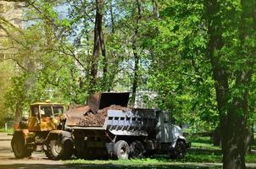
[[[9,127],[10,123],[7,121],[14,116],[14,112],[5,106],[4,99],[16,66],[8,59],[16,52],[14,47],[9,45],[8,38],[23,28],[23,5],[24,3],[0,0],[0,128],[3,128],[4,123]]]

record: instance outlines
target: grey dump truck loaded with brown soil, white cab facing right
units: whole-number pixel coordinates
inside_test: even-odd
[[[190,144],[170,113],[159,109],[128,108],[129,93],[99,93],[87,106],[64,113],[77,158],[140,158],[167,154],[182,158]],[[64,148],[64,147],[63,147]]]

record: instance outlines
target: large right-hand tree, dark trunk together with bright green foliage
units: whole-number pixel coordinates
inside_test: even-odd
[[[207,113],[217,112],[211,104],[215,100],[223,166],[245,168],[255,74],[255,2],[166,1],[162,5],[157,37],[151,41],[157,54],[150,85],[159,89],[160,104],[173,112],[185,110],[179,116],[196,113],[196,119],[215,122],[218,116]]]

